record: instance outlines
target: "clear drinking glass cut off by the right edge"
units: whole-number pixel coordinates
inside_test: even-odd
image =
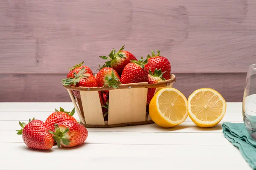
[[[243,119],[248,133],[256,140],[256,64],[247,72],[243,98]]]

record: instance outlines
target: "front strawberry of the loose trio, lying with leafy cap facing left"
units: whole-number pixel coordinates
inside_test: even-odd
[[[64,120],[55,124],[55,132],[50,131],[56,139],[58,147],[74,147],[84,143],[87,139],[87,129],[79,123],[72,120]]]

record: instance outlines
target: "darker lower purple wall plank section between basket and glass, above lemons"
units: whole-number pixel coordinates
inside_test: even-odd
[[[173,88],[181,91],[186,98],[199,88],[213,88],[226,102],[242,102],[246,73],[240,74],[175,74],[177,82]]]

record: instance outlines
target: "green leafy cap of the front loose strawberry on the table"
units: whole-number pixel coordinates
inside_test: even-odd
[[[61,131],[60,127],[57,124],[54,124],[54,125],[55,125],[55,132],[52,132],[51,130],[48,130],[48,131],[53,135],[53,138],[57,142],[58,148],[61,147],[61,142],[65,145],[69,145],[71,141],[65,136],[65,133],[69,132],[69,128],[67,127],[64,131]]]

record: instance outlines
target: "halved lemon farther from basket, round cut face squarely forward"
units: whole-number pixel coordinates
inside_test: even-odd
[[[211,88],[201,88],[188,98],[189,117],[199,127],[217,125],[226,113],[225,99]]]

